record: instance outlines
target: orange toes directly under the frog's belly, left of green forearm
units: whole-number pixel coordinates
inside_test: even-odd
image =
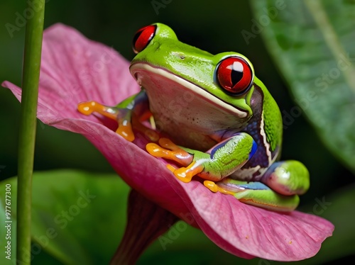
[[[162,157],[166,159],[173,160],[187,166],[192,162],[193,155],[189,154],[185,150],[182,150],[178,145],[175,145],[167,138],[160,138],[159,145],[151,142],[146,145],[146,150],[153,157]]]

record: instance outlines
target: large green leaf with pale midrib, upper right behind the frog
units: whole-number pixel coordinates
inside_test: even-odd
[[[251,3],[254,38],[263,35],[295,102],[329,150],[355,171],[355,2]],[[284,125],[300,115],[296,108],[283,110]]]

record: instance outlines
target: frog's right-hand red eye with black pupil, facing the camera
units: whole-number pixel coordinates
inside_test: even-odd
[[[217,79],[229,94],[239,95],[246,92],[253,84],[253,71],[241,57],[228,57],[219,63]]]

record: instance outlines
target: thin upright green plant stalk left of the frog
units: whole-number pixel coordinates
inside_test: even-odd
[[[17,247],[19,264],[31,264],[31,201],[35,128],[43,39],[45,0],[30,0],[23,58],[20,132],[18,139]]]

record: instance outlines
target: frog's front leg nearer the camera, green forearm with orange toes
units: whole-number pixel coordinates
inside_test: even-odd
[[[178,179],[190,182],[195,175],[209,181],[219,181],[229,176],[256,152],[256,142],[247,133],[238,133],[214,145],[207,152],[178,147],[166,138],[159,145],[149,143],[147,151],[155,157],[174,160],[184,167],[173,170]]]

